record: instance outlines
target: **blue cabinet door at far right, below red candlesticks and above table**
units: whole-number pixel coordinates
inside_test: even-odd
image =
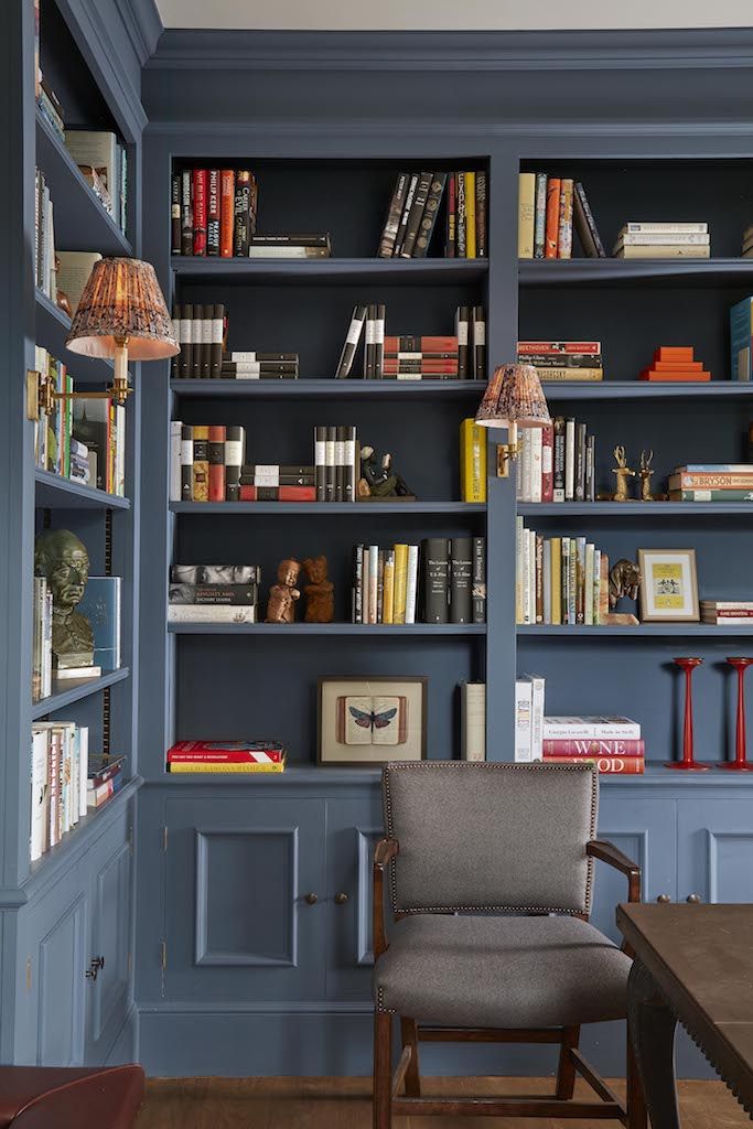
[[[753,803],[744,791],[678,800],[680,901],[698,894],[704,902],[753,902]]]

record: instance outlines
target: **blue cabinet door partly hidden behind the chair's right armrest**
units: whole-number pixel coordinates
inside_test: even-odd
[[[633,859],[641,870],[642,900],[653,902],[660,894],[674,901],[676,894],[676,812],[675,800],[647,796],[646,789],[628,793],[630,786],[615,781],[602,789],[598,837],[608,839]],[[628,900],[628,879],[619,870],[595,861],[595,891],[592,921],[618,943],[622,936],[614,918],[619,902]]]

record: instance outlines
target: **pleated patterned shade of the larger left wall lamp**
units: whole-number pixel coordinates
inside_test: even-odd
[[[94,264],[65,339],[72,352],[131,360],[174,357],[180,345],[151,263],[100,259]]]

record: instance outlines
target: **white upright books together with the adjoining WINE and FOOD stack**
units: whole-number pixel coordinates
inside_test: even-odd
[[[628,717],[548,717],[545,680],[524,674],[515,682],[515,760],[555,764],[595,763],[599,772],[643,772],[640,725]]]

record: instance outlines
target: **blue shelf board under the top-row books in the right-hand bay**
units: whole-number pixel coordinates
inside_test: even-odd
[[[753,259],[524,259],[522,287],[741,287],[753,282]]]

